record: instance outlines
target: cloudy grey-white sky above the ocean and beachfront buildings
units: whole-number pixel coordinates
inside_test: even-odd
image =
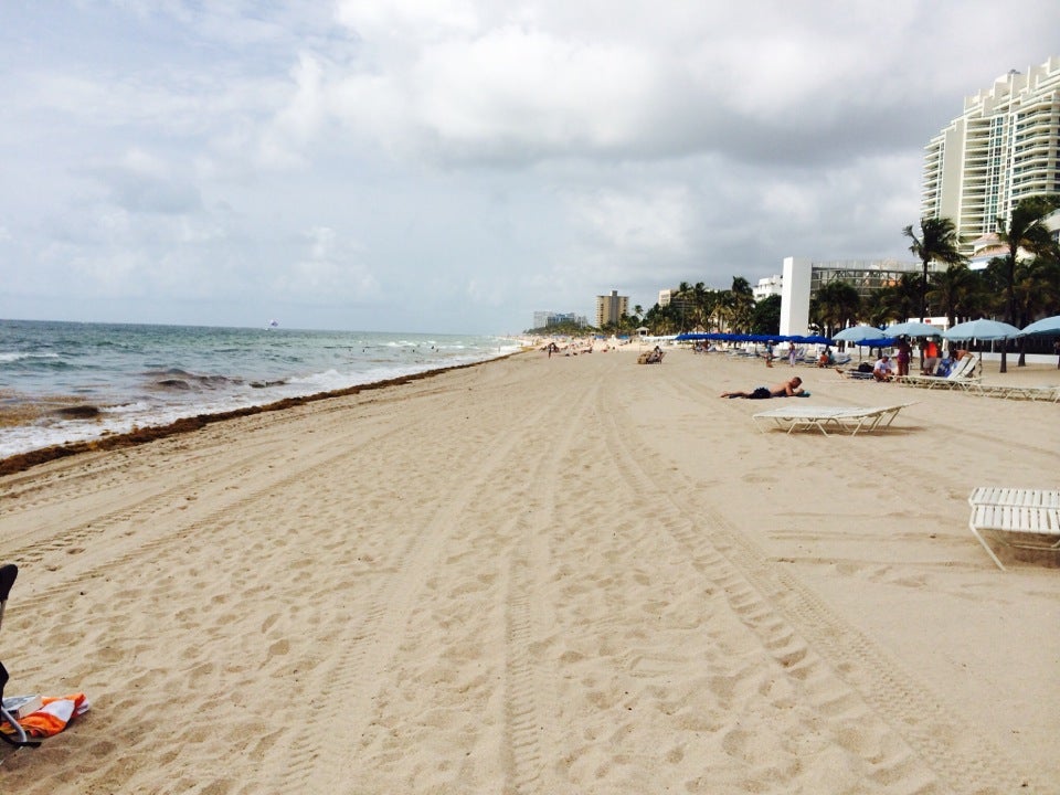
[[[1054,0],[2,0],[0,317],[519,331],[908,258]]]

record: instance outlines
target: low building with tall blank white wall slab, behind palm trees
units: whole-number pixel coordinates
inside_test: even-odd
[[[943,265],[931,263],[930,272]],[[898,284],[909,273],[922,274],[923,263],[901,259],[841,259],[814,262],[807,257],[784,257],[781,283],[781,333],[809,333],[809,301],[830,282],[846,282],[861,298]],[[775,277],[774,277],[775,278]]]

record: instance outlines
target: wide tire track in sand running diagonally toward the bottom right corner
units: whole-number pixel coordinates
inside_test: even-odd
[[[966,722],[941,699],[796,577],[771,564],[718,509],[701,498],[685,505],[670,499],[659,473],[685,480],[678,489],[682,495],[696,495],[695,485],[665,468],[656,454],[640,449],[634,455],[623,432],[634,423],[602,413],[608,417],[608,447],[626,487],[640,490],[645,500],[655,500],[660,527],[687,550],[704,576],[724,589],[735,615],[761,637],[826,720],[857,728],[870,717],[862,708],[868,706],[872,717],[901,736],[910,753],[945,782],[942,792],[1018,789],[1013,771],[1019,768],[999,749],[966,731]],[[650,445],[645,443],[643,448]],[[651,466],[653,459],[657,466]],[[861,749],[855,743],[848,750],[878,753],[879,745]],[[889,759],[871,762],[880,782],[893,784],[910,775],[913,791],[924,784],[908,754],[895,749]]]

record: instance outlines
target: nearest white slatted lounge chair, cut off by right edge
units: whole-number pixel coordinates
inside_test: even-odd
[[[1001,571],[985,537],[1016,549],[1060,551],[1060,489],[982,487],[968,497],[968,528]]]

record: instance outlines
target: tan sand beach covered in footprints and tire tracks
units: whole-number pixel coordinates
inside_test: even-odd
[[[966,502],[1060,487],[1060,404],[797,368],[913,405],[763,433],[718,395],[785,363],[636,348],[0,477],[8,690],[92,701],[0,787],[1060,792],[1060,569],[998,570]]]

